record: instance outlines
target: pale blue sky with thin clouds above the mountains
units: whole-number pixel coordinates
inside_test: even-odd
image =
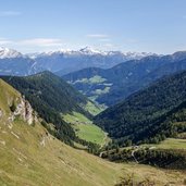
[[[186,50],[186,0],[0,0],[0,46]]]

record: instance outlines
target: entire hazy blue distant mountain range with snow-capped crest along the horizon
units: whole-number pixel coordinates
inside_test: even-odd
[[[30,75],[41,71],[64,75],[85,67],[112,67],[132,59],[141,59],[152,53],[99,51],[88,47],[73,51],[59,50],[42,53],[22,54],[13,49],[0,48],[1,75]]]

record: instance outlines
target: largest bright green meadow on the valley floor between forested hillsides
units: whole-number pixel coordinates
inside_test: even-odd
[[[92,124],[85,115],[73,112],[73,114],[63,115],[65,122],[73,125],[76,135],[86,141],[95,142],[100,146],[108,141],[107,134],[97,125]]]

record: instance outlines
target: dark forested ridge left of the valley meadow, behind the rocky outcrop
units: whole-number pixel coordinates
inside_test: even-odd
[[[1,78],[20,90],[40,117],[47,123],[54,124],[54,135],[67,144],[72,144],[76,137],[72,126],[62,120],[61,114],[76,111],[91,117],[91,113],[86,108],[87,104],[97,108],[86,97],[50,72],[27,77],[3,76]]]

